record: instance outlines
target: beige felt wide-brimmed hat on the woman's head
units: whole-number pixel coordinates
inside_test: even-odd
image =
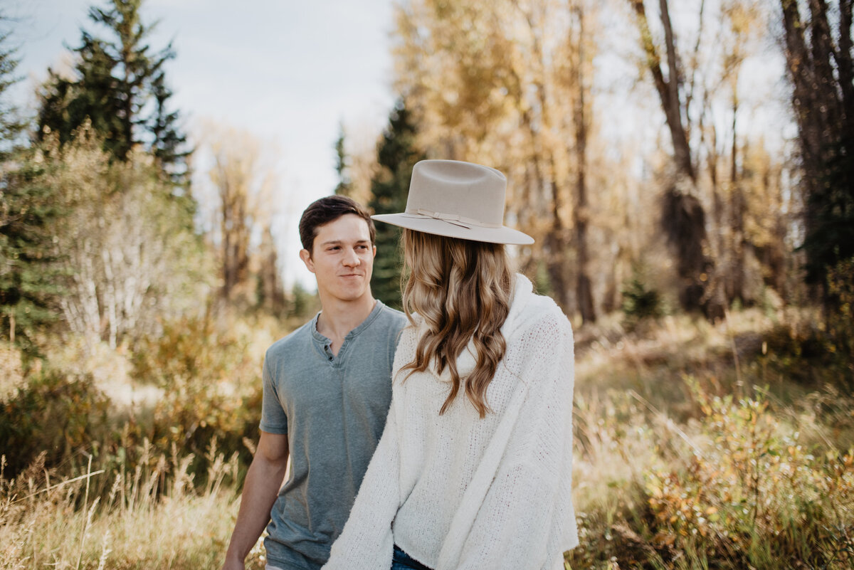
[[[503,224],[506,189],[506,177],[494,168],[459,160],[421,160],[412,168],[407,211],[371,218],[436,236],[534,243],[533,237]]]

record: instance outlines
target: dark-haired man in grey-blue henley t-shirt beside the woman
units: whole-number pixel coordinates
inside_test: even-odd
[[[322,310],[266,352],[260,441],[223,570],[243,570],[265,526],[267,570],[316,570],[347,521],[383,433],[406,323],[371,295],[374,237],[370,215],[349,198],[321,198],[302,213],[300,257]]]

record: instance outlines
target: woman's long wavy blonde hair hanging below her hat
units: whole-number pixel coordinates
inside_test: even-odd
[[[404,230],[403,251],[403,308],[413,325],[412,313],[424,318],[426,332],[415,359],[401,370],[423,372],[435,359],[439,374],[450,371],[451,392],[439,411],[444,414],[464,384],[457,358],[473,340],[477,364],[465,378],[465,395],[483,418],[489,411],[486,389],[506,351],[500,327],[510,311],[512,272],[505,247]]]

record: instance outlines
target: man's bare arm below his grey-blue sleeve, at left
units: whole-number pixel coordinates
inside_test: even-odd
[[[223,570],[243,570],[249,550],[270,521],[270,510],[288,465],[288,436],[261,432],[258,451],[243,483],[237,523],[225,553]]]

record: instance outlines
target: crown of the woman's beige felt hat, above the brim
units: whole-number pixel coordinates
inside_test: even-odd
[[[506,189],[506,177],[494,168],[459,160],[421,160],[412,167],[407,213],[500,228]]]

